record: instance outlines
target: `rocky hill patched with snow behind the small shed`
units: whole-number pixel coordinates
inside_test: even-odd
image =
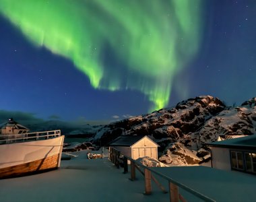
[[[94,139],[106,145],[119,135],[150,135],[160,145],[160,161],[191,165],[209,156],[203,143],[216,141],[219,135],[253,135],[255,129],[256,98],[230,107],[218,98],[199,96],[174,108],[105,125]]]

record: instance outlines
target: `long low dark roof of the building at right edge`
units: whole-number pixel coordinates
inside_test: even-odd
[[[256,135],[249,135],[247,137],[238,137],[235,139],[227,139],[224,141],[216,141],[212,143],[206,143],[211,147],[228,147],[228,148],[246,148],[256,149]]]

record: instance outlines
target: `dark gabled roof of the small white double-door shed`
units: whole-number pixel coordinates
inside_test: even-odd
[[[110,146],[129,146],[130,147],[131,145],[134,145],[135,143],[137,143],[137,141],[143,139],[144,137],[147,137],[152,142],[154,142],[147,135],[144,135],[144,136],[141,136],[141,135],[121,135],[121,136],[117,137],[117,139],[115,139],[113,141],[113,143],[110,143]],[[155,143],[155,144],[158,145],[157,143]]]

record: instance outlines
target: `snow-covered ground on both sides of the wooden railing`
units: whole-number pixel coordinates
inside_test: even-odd
[[[76,151],[77,157],[62,161],[58,170],[0,180],[0,201],[170,201],[169,193],[162,193],[153,180],[152,195],[143,195],[144,180],[137,170],[137,180],[131,181],[130,172],[123,174],[108,158],[88,160],[86,153]],[[256,176],[252,174],[204,166],[151,169],[216,201],[256,198]],[[168,191],[168,181],[154,176]],[[201,201],[183,189],[179,191],[187,201]]]

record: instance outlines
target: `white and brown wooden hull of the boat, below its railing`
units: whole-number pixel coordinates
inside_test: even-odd
[[[0,145],[0,178],[24,176],[60,166],[64,136]]]

